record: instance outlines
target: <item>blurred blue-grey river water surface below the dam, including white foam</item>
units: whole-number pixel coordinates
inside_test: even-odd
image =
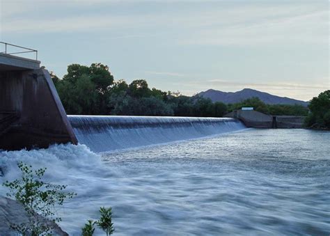
[[[116,235],[330,233],[330,132],[244,129],[102,155],[84,145],[0,155],[3,180],[24,159],[77,192],[58,210],[70,235],[100,206],[113,207]]]

